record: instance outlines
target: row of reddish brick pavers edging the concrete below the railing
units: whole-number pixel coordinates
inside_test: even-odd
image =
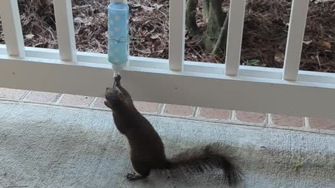
[[[45,93],[38,91],[22,91],[0,88],[0,100],[15,100],[33,103],[54,104],[66,107],[84,107],[90,109],[107,109],[103,99],[61,93]],[[232,111],[225,109],[209,109],[186,107],[174,104],[158,104],[152,102],[135,102],[135,107],[142,113],[158,116],[191,118],[239,125],[274,127],[280,129],[327,132],[335,134],[335,120],[284,116],[269,113]]]

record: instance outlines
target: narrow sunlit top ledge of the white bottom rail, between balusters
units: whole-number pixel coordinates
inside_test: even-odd
[[[25,47],[28,58],[39,59],[52,63],[54,60],[59,60],[58,49],[46,49],[37,47]],[[6,45],[0,45],[0,54],[6,55]],[[7,57],[6,57],[7,58]],[[41,58],[41,59],[40,59]],[[77,60],[82,63],[97,63],[110,65],[107,61],[107,54],[98,54],[91,52],[77,52]],[[73,63],[73,62],[61,62]],[[151,68],[160,70],[169,70],[168,59],[161,58],[142,58],[131,56],[131,67],[137,68]],[[225,72],[225,65],[221,63],[204,63],[185,61],[183,72],[200,72],[215,75],[223,75]],[[241,77],[258,77],[265,79],[282,79],[283,69],[281,68],[263,68],[254,66],[239,66],[239,76]],[[327,72],[311,72],[299,70],[297,81],[307,81],[324,84],[335,84],[335,74]]]

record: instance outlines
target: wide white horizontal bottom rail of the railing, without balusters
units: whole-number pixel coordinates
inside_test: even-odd
[[[57,50],[27,49],[25,58],[0,55],[0,87],[103,97],[105,88],[112,85],[113,72],[104,63],[105,54],[78,52],[79,62],[66,63],[52,58],[54,52],[58,56]],[[81,61],[84,56],[96,62]],[[122,83],[134,100],[334,118],[332,73],[299,72],[305,80],[285,81],[278,79],[281,69],[241,66],[239,77],[229,77],[224,71],[217,74],[224,70],[222,64],[185,62],[183,72],[174,72],[168,70],[167,62],[131,58]]]

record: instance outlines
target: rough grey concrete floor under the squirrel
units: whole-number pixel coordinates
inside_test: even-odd
[[[244,172],[239,187],[335,187],[335,136],[147,116],[167,155],[222,142]],[[293,166],[304,161],[297,172]],[[152,173],[128,182],[128,142],[110,111],[0,101],[0,187],[228,187],[219,172]]]

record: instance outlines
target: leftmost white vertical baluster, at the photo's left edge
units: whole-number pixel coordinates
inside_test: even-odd
[[[17,0],[0,0],[0,16],[9,56],[25,56]]]

